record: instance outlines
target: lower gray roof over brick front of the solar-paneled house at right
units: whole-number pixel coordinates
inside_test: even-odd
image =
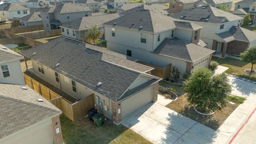
[[[233,26],[229,31],[217,35],[226,42],[234,40],[252,42],[256,39],[256,33],[254,31],[237,26]]]

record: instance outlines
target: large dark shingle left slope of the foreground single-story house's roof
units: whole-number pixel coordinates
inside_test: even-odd
[[[86,49],[89,46],[60,37],[22,54],[117,101],[141,73],[105,61],[102,52]],[[55,67],[57,63],[60,65]],[[97,86],[99,82],[101,86]]]

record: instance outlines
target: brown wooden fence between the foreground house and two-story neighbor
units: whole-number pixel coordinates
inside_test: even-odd
[[[171,76],[171,73],[172,73],[171,72],[171,70],[172,70],[171,63],[165,67],[158,67],[155,65],[151,65],[149,63],[141,62],[141,61],[138,61],[138,63],[155,68],[155,69],[151,70],[151,75],[161,77],[161,78],[167,78],[167,77]]]

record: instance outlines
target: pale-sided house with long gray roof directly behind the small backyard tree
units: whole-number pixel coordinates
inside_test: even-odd
[[[87,31],[92,27],[92,25],[97,25],[100,31],[104,31],[102,23],[119,18],[118,13],[96,15],[92,17],[83,17],[74,21],[63,23],[61,28],[61,33],[63,36],[75,38],[75,39],[86,39]]]

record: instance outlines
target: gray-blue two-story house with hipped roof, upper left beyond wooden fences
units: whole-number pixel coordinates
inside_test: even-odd
[[[56,3],[55,6],[41,12],[44,30],[59,29],[62,23],[73,21],[82,17],[92,15],[87,6],[80,6],[71,2]]]

